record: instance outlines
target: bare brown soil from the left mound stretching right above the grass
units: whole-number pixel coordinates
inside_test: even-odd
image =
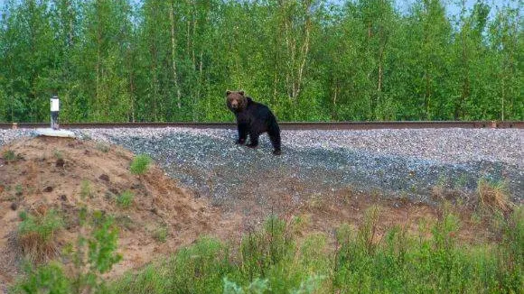
[[[23,256],[16,238],[21,222],[19,213],[42,207],[56,209],[66,221],[65,228],[55,235],[58,246],[76,240],[79,227],[75,220],[80,205],[115,216],[120,226],[119,253],[124,259],[110,276],[173,253],[202,234],[239,243],[242,233],[257,228],[271,214],[285,219],[303,217],[307,220],[303,234],[332,235],[342,223],[359,225],[364,211],[378,206],[380,235],[392,225],[407,225],[410,231],[417,232],[421,220],[435,221],[439,213],[437,207],[408,200],[392,201],[379,194],[364,195],[351,188],[337,190],[336,195],[326,191],[326,195],[331,193],[329,198],[319,194],[299,203],[291,195],[275,195],[260,204],[256,196],[247,193],[240,202],[216,207],[211,206],[207,198],[198,198],[181,188],[155,165],[144,175],[133,175],[129,165],[134,154],[117,145],[36,137],[4,145],[0,154],[7,151],[13,151],[16,158],[0,159],[0,290],[21,274]],[[265,182],[265,179],[257,180]],[[299,183],[282,180],[285,185],[300,190]],[[89,193],[86,193],[87,183]],[[267,185],[271,185],[269,180]],[[133,203],[128,208],[119,207],[116,198],[126,190],[135,194]],[[464,241],[490,237],[482,224],[470,221],[470,212],[459,213],[464,222],[460,231]],[[165,242],[154,237],[161,228],[167,228]]]

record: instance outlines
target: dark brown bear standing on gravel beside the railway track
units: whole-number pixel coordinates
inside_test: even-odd
[[[269,107],[244,96],[244,91],[227,91],[226,96],[229,110],[237,117],[237,143],[244,144],[249,134],[248,147],[255,148],[258,145],[258,136],[267,132],[273,144],[273,154],[280,155],[280,128]]]

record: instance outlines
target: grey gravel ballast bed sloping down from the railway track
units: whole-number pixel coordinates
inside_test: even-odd
[[[148,128],[75,130],[80,137],[150,155],[166,173],[215,205],[275,195],[295,201],[351,188],[432,203],[435,187],[472,193],[479,179],[524,193],[524,130],[400,129],[284,131],[283,154],[235,144],[233,130]],[[0,145],[30,130],[0,131]]]

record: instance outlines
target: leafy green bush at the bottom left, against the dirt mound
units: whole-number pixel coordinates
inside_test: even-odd
[[[29,219],[31,216],[23,216]],[[14,293],[108,293],[103,274],[110,271],[114,264],[122,259],[117,254],[118,230],[113,225],[113,218],[94,212],[88,221],[88,211],[80,208],[79,236],[76,246],[68,244],[64,254],[72,265],[68,274],[60,262],[50,262],[39,266],[27,263],[25,275],[17,280],[11,290]],[[82,232],[88,226],[91,233],[84,236]]]

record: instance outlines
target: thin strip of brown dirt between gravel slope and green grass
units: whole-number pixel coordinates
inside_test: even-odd
[[[285,184],[293,187],[293,190],[304,190],[295,179],[282,179]],[[283,184],[283,183],[280,183]],[[409,198],[388,198],[379,192],[371,194],[360,192],[348,187],[340,190],[325,190],[323,193],[305,195],[298,200],[292,195],[273,195],[271,198],[260,203],[256,195],[246,193],[243,201],[236,204],[235,210],[242,212],[245,216],[242,220],[242,231],[256,229],[267,216],[276,215],[290,220],[294,216],[300,216],[304,220],[303,232],[301,234],[315,234],[322,232],[331,236],[334,242],[335,231],[342,224],[357,228],[361,225],[366,214],[371,209],[378,209],[378,220],[376,227],[377,242],[382,235],[394,226],[400,226],[407,230],[408,234],[419,237],[429,237],[432,225],[441,218],[444,209],[444,201],[440,200],[440,206],[430,206],[426,203],[414,203]],[[442,196],[435,196],[442,198]],[[491,230],[491,225],[486,223],[486,218],[473,221],[474,211],[471,207],[453,204],[447,209],[460,218],[460,226],[456,239],[460,243],[491,243],[497,241],[499,235]],[[477,216],[481,217],[481,216]]]

